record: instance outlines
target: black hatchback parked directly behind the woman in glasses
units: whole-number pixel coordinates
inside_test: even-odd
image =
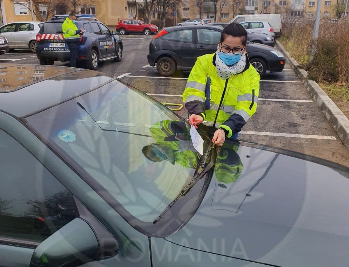
[[[156,64],[162,76],[171,76],[176,70],[191,70],[198,56],[216,52],[222,30],[206,25],[165,28],[149,44],[149,65]],[[281,72],[285,66],[283,54],[270,46],[248,43],[246,51],[261,77],[267,70]]]

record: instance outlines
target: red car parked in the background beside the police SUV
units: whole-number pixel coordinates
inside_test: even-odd
[[[119,21],[116,30],[120,35],[129,34],[130,32],[143,32],[145,35],[157,33],[157,26],[154,24],[146,24],[137,19],[125,19]]]

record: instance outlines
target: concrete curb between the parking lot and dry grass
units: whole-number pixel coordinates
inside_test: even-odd
[[[343,112],[337,107],[337,105],[328,97],[328,95],[320,88],[320,86],[313,80],[308,80],[308,73],[299,68],[299,64],[291,55],[286,51],[279,41],[276,41],[277,48],[285,55],[291,68],[295,71],[299,79],[304,84],[314,101],[317,103],[322,113],[325,114],[329,123],[335,129],[339,138],[343,141],[344,146],[349,150],[349,119],[343,114]]]

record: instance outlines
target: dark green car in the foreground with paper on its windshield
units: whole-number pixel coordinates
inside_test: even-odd
[[[199,130],[200,155],[119,79],[1,69],[2,267],[347,266],[347,167]]]

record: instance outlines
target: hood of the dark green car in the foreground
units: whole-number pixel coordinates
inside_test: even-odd
[[[236,182],[215,171],[192,219],[165,239],[272,266],[347,266],[349,169],[254,144],[237,155]]]

